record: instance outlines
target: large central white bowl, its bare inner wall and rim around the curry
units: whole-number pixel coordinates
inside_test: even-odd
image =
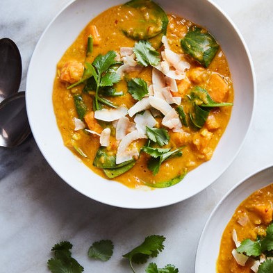
[[[192,197],[215,181],[235,158],[244,142],[256,97],[254,68],[238,29],[214,3],[207,0],[158,0],[167,13],[200,24],[212,33],[229,62],[235,99],[233,112],[213,158],[171,188],[132,190],[94,174],[63,145],[52,106],[56,64],[90,20],[123,0],[76,0],[46,28],[28,69],[26,107],[35,141],[55,172],[74,189],[97,201],[124,208],[156,208]]]

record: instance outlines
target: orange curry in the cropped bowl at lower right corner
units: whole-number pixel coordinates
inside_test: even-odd
[[[261,253],[258,256],[249,256],[249,258],[244,255],[245,253],[242,253],[244,256],[239,255],[238,258],[238,254],[234,256],[234,249],[237,247],[235,245],[234,233],[237,236],[239,245],[243,240],[251,240],[253,242],[258,238],[263,240],[267,233],[267,227],[272,223],[272,214],[273,184],[257,190],[242,201],[240,206],[236,208],[222,235],[220,253],[217,259],[217,273],[254,273],[257,272],[258,267],[267,259],[268,255],[272,257],[270,252],[266,255]]]

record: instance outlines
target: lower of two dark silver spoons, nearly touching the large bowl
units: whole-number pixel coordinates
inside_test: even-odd
[[[30,133],[25,92],[17,92],[0,103],[0,147],[17,147]]]

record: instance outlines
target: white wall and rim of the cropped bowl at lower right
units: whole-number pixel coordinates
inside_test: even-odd
[[[201,234],[195,260],[195,273],[215,272],[220,242],[235,209],[251,195],[273,182],[273,167],[252,174],[235,185],[217,204]]]

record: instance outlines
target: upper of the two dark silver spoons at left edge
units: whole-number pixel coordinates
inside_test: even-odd
[[[0,40],[0,102],[19,90],[22,58],[13,40]]]

